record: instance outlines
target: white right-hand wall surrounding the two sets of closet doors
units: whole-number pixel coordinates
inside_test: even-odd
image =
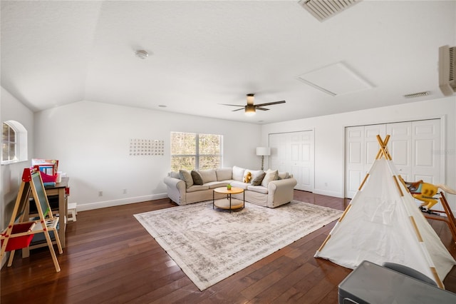
[[[314,129],[314,193],[342,198],[344,196],[344,129],[346,126],[414,121],[429,118],[445,119],[445,183],[452,188],[456,188],[456,97],[299,119],[283,123],[271,123],[263,126],[261,130],[261,142],[263,144],[268,143],[269,133]],[[455,196],[450,195],[448,201],[450,206],[452,206],[452,210],[456,210]]]

